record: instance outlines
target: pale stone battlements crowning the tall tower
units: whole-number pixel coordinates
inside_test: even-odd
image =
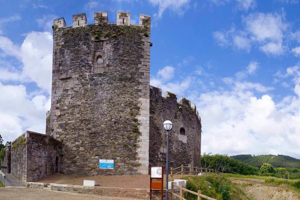
[[[87,18],[85,13],[73,15],[72,27],[77,28],[77,27],[83,27],[87,25],[98,25],[98,24],[109,23],[109,24],[116,24],[116,25],[135,25],[135,26],[144,27],[146,28],[146,31],[150,31],[151,28],[150,21],[151,21],[151,16],[140,14],[139,24],[138,25],[131,24],[130,13],[118,11],[116,23],[109,23],[107,11],[99,11],[99,12],[94,12],[94,24],[87,24]],[[53,26],[57,26],[57,28],[69,27],[66,25],[64,17],[54,19]]]

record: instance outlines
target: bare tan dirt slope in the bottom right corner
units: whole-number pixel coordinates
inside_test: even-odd
[[[266,184],[263,180],[251,178],[228,178],[237,183],[248,197],[254,200],[299,200],[299,196],[287,191],[286,185],[274,186]]]

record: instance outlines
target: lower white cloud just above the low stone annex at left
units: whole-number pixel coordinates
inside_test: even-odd
[[[50,99],[44,95],[29,98],[24,85],[0,82],[0,134],[4,141],[16,139],[26,129],[45,133],[45,114]]]

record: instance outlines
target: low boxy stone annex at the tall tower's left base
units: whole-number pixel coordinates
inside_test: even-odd
[[[11,146],[11,169],[24,184],[61,170],[61,142],[50,136],[26,131]],[[57,162],[55,162],[57,157]],[[56,167],[57,166],[57,167]]]

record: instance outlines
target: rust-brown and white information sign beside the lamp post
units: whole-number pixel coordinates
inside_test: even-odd
[[[150,200],[152,189],[161,190],[161,200],[164,199],[164,166],[150,168]]]

